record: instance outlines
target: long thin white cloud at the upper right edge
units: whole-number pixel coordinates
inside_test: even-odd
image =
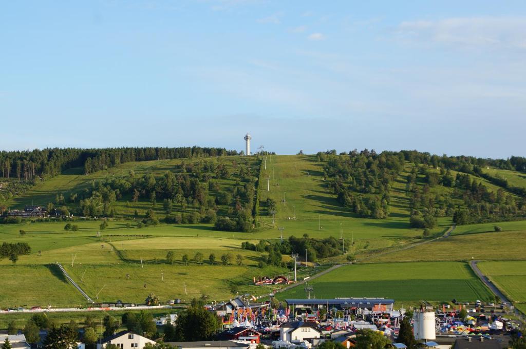
[[[526,48],[525,16],[454,17],[402,22],[396,35],[404,41],[462,47]]]

